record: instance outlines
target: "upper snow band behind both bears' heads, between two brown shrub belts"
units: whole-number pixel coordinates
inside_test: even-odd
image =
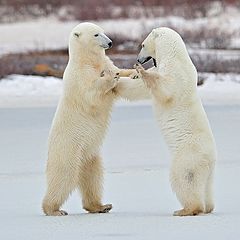
[[[0,55],[29,50],[67,48],[69,33],[78,23],[77,21],[60,22],[55,18],[42,18],[35,21],[0,24]],[[195,33],[209,29],[209,32],[213,33],[212,37],[214,35],[222,38],[225,35],[231,36],[227,44],[229,48],[240,47],[240,11],[234,8],[228,8],[221,15],[191,20],[169,16],[105,20],[96,23],[112,36],[138,41],[144,39],[146,34],[159,26],[170,26],[180,33]],[[204,40],[203,38],[200,47],[206,47]]]

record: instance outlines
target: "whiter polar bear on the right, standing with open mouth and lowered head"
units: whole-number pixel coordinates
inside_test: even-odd
[[[214,137],[197,94],[197,71],[180,35],[154,29],[142,43],[141,64],[153,58],[156,71],[136,69],[150,88],[161,131],[172,155],[170,180],[182,210],[175,216],[210,213],[216,160]]]

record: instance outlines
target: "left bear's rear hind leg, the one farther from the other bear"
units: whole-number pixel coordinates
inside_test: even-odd
[[[67,212],[60,210],[69,194],[76,187],[76,176],[72,169],[66,166],[54,167],[47,170],[48,187],[43,199],[42,209],[48,216],[65,216]]]

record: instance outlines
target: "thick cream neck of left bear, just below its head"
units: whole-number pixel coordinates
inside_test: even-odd
[[[81,66],[96,66],[103,63],[105,58],[104,49],[79,48],[77,51],[69,49],[69,62]]]

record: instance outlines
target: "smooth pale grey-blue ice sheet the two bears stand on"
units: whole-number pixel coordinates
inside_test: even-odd
[[[216,210],[173,217],[169,155],[150,106],[116,107],[103,147],[109,214],[86,214],[74,193],[70,215],[45,217],[46,140],[55,108],[0,108],[0,239],[231,239],[240,237],[240,107],[206,106],[219,156]]]

